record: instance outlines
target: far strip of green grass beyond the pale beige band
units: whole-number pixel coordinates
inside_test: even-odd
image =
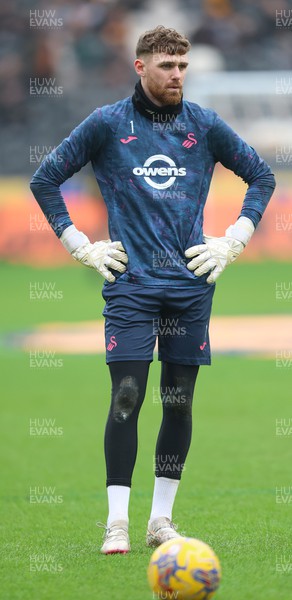
[[[102,279],[76,263],[59,269],[33,269],[0,263],[0,331],[18,331],[45,321],[82,321],[102,318]],[[291,263],[231,265],[217,285],[213,314],[291,313],[291,298],[276,298],[276,285],[291,282]],[[51,286],[59,301],[32,301],[33,286]],[[290,284],[292,285],[292,284]],[[289,291],[286,292],[289,294]]]

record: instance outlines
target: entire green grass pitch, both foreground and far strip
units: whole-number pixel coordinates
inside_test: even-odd
[[[290,268],[242,264],[232,267],[232,277],[230,267],[218,285],[214,311],[291,311],[291,301],[275,301],[275,282],[289,281]],[[100,318],[99,282],[78,266],[37,271],[5,265],[1,274],[8,292],[2,332],[44,321]],[[29,301],[30,281],[55,281],[63,300]],[[144,540],[161,415],[153,402],[157,359],[139,422],[132,552],[111,557],[99,554],[102,529],[96,527],[96,521],[106,520],[103,430],[109,376],[103,356],[62,355],[56,368],[33,369],[26,353],[3,346],[1,363],[1,596],[151,600],[146,579],[151,550]],[[216,600],[287,600],[291,594],[292,436],[276,435],[276,419],[291,417],[291,369],[277,369],[275,360],[217,355],[211,368],[201,369],[193,442],[174,521],[218,554],[223,579]],[[54,419],[62,435],[30,435],[35,418]],[[30,502],[34,487],[50,487],[59,502]],[[288,501],[277,501],[281,487],[290,487]]]

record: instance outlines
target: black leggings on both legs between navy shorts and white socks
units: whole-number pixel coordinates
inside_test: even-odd
[[[105,429],[107,485],[130,487],[137,456],[137,422],[150,362],[109,364],[111,406]],[[199,367],[161,363],[162,422],[155,451],[155,475],[180,479],[192,436],[192,401]]]

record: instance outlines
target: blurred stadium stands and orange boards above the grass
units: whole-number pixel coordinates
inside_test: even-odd
[[[96,106],[132,94],[138,35],[156,23],[193,43],[185,97],[214,108],[268,160],[278,188],[244,259],[286,260],[291,243],[291,1],[62,0],[1,2],[0,256],[21,263],[70,260],[28,189],[43,157]],[[217,169],[206,228],[222,232],[240,206],[237,181]],[[64,185],[72,216],[97,238],[106,216],[90,168]],[[224,210],[222,210],[224,206]],[[94,213],[96,218],[93,218]],[[225,223],[223,222],[223,218]],[[41,234],[40,234],[41,232]]]

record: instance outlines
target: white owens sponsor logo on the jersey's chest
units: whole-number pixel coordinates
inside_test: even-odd
[[[167,164],[167,167],[153,167],[152,163],[157,161],[162,161]],[[177,168],[175,162],[169,156],[165,156],[165,154],[154,154],[153,156],[149,156],[147,160],[145,160],[143,167],[135,167],[133,169],[134,175],[144,176],[144,179],[148,185],[156,188],[157,190],[165,190],[174,184],[177,177],[184,177],[186,175],[186,169],[184,167]],[[157,182],[153,181],[151,177],[167,177],[166,181]]]

